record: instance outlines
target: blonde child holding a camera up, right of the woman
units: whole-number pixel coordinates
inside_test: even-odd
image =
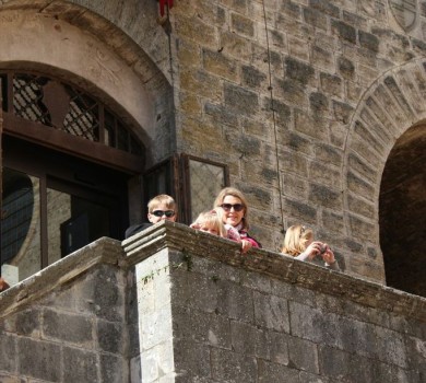
[[[312,260],[320,255],[326,267],[340,270],[334,254],[327,243],[313,241],[313,232],[300,224],[289,227],[285,232],[283,254],[291,255],[299,260]]]

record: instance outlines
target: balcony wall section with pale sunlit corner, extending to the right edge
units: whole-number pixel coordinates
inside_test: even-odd
[[[123,246],[137,263],[143,382],[426,378],[425,299],[276,253],[241,255],[168,222]]]

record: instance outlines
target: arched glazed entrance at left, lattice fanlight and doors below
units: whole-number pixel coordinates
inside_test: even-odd
[[[13,283],[100,236],[123,237],[144,148],[73,84],[36,72],[0,78],[1,264]]]

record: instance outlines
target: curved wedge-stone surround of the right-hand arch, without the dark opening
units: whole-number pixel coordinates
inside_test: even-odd
[[[425,120],[425,96],[424,59],[389,70],[365,93],[347,136],[343,172],[347,235],[363,243],[360,256],[365,260],[372,258],[378,268],[381,264],[382,276],[377,272],[371,279],[383,282],[379,227],[382,174],[398,140]],[[423,138],[425,134],[423,129]]]

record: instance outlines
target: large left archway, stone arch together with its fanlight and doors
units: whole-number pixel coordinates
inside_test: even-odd
[[[11,187],[16,177],[31,179],[40,213],[23,234],[32,252],[21,245],[9,263],[19,280],[99,236],[122,239],[129,214],[140,210],[129,199],[141,199],[145,159],[169,154],[173,126],[167,80],[122,31],[79,5],[61,2],[58,16],[55,7],[20,3],[0,7],[0,165]],[[114,44],[97,36],[105,28]]]

